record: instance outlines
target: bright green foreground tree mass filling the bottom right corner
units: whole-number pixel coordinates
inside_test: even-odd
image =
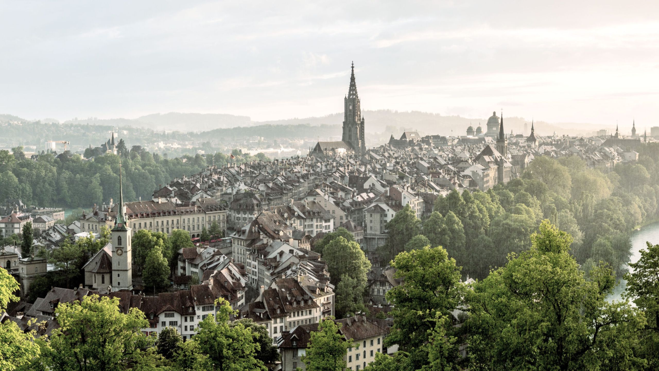
[[[627,276],[634,307],[606,300],[614,269],[602,261],[587,275],[571,244],[544,220],[528,250],[472,285],[441,246],[400,253],[392,263],[404,280],[387,292],[394,322],[385,340],[400,351],[365,370],[654,370],[659,246],[648,244]]]

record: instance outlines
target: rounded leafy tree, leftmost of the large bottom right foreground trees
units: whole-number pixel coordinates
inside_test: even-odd
[[[396,269],[394,277],[403,279],[403,283],[386,294],[393,304],[393,327],[384,344],[398,344],[399,349],[411,353],[417,370],[427,363],[428,349],[423,345],[436,327],[437,316],[452,316],[461,302],[461,273],[441,246],[399,253],[392,266]],[[451,335],[452,323],[444,325]],[[453,356],[457,358],[457,353]]]

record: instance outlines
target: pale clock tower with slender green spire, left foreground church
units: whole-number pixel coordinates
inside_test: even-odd
[[[112,290],[132,290],[132,252],[130,252],[130,226],[126,222],[119,164],[119,210],[112,228]]]

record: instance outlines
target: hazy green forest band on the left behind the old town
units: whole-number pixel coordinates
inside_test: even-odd
[[[200,154],[167,158],[144,151],[140,146],[133,146],[130,150],[123,146],[119,155],[103,154],[93,160],[71,153],[57,156],[47,153],[31,160],[22,155],[22,147],[16,147],[13,152],[0,151],[0,184],[3,185],[0,200],[20,198],[28,205],[69,208],[89,208],[107,203],[111,198],[116,202],[120,161],[124,200],[150,199],[159,185],[196,174],[207,165],[269,160],[262,153],[252,156],[237,152],[234,157],[218,152],[205,158]]]

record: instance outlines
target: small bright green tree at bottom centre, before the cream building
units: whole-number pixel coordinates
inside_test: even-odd
[[[353,339],[346,340],[341,333],[341,323],[329,316],[318,323],[318,331],[311,331],[306,354],[301,358],[307,371],[343,371],[343,359]]]

